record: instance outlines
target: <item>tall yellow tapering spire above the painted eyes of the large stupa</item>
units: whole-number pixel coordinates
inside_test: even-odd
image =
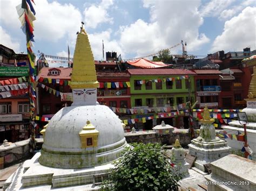
[[[98,86],[99,82],[97,81],[91,45],[82,25],[77,35],[70,87],[72,89],[82,89],[98,88]]]

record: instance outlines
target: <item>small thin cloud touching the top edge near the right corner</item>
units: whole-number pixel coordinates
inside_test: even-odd
[[[201,7],[200,14],[203,17],[218,17],[220,13],[233,2],[234,0],[212,0]]]

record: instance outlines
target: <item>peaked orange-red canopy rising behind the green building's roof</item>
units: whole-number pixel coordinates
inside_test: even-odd
[[[137,66],[140,68],[159,68],[159,67],[164,67],[164,66],[170,66],[166,65],[164,62],[153,62],[144,58],[134,60],[134,61],[127,61],[132,66]]]

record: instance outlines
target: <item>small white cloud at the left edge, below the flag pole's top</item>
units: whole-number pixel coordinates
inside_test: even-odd
[[[19,43],[15,43],[12,41],[11,36],[8,34],[7,31],[5,31],[2,26],[0,26],[0,38],[1,38],[1,44],[13,49],[16,53],[19,53],[20,45]]]

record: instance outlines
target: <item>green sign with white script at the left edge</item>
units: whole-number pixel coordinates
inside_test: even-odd
[[[0,76],[28,76],[29,67],[0,67]]]

